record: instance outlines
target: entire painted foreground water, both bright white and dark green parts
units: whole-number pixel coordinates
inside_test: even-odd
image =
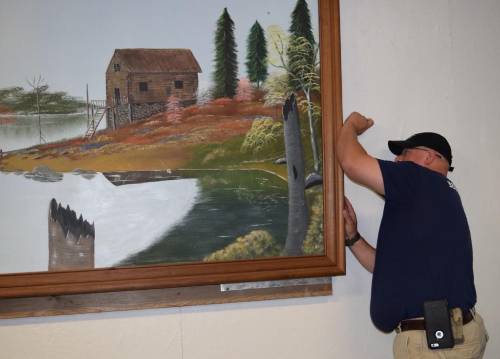
[[[172,170],[163,180],[1,172],[0,273],[47,270],[52,198],[95,227],[95,267],[202,260],[252,230],[286,237],[286,181],[262,170]],[[126,172],[122,172],[126,173]]]

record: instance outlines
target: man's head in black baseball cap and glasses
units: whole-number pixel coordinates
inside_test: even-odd
[[[446,174],[452,171],[451,147],[446,138],[433,132],[414,134],[403,141],[388,141],[389,149],[397,155],[395,161],[413,161]]]

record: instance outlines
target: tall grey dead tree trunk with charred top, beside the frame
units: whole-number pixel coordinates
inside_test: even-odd
[[[284,143],[288,169],[288,229],[285,254],[299,255],[307,234],[309,215],[305,198],[305,165],[295,94],[283,106]]]

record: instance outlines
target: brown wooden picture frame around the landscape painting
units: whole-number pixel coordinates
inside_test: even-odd
[[[0,299],[191,287],[345,274],[343,172],[334,140],[342,124],[338,0],[319,0],[324,254],[0,274]],[[68,312],[71,312],[70,310]]]

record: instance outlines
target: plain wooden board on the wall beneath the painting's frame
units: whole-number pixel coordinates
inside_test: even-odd
[[[220,285],[0,300],[0,319],[331,295],[331,281],[222,291]]]

